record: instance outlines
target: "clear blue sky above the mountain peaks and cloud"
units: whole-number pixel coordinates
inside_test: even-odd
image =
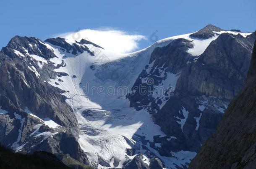
[[[256,0],[2,0],[0,48],[15,35],[45,40],[78,29],[122,30],[157,38],[195,32],[208,24],[256,30]]]

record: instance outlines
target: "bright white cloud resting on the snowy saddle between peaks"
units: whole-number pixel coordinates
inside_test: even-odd
[[[79,41],[82,38],[85,38],[113,53],[133,52],[138,49],[138,42],[146,39],[143,35],[129,34],[123,30],[115,29],[83,29],[77,32],[60,34],[56,37],[67,39],[68,43],[73,43],[75,40]]]

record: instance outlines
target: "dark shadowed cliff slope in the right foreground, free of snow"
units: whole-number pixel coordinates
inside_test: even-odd
[[[256,43],[245,86],[189,169],[256,169]]]

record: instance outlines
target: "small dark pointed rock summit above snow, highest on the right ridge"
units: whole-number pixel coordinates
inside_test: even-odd
[[[219,32],[221,30],[222,30],[221,28],[218,28],[214,25],[207,25],[206,27],[197,31],[196,33],[191,34],[190,37],[199,38],[199,39],[208,39],[216,35],[216,33],[214,32]]]

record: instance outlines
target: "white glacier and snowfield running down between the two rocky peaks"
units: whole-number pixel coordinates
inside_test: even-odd
[[[138,149],[134,154],[138,151],[145,154],[146,149],[143,147],[146,146],[164,162],[166,168],[175,167],[175,165],[185,166],[185,163],[196,155],[195,152],[180,151],[173,152],[173,157],[168,158],[152,149],[149,142],[144,144],[143,140],[154,142],[154,136],[166,135],[153,123],[149,112],[144,109],[136,111],[135,108],[130,107],[126,94],[131,92],[136,78],[149,63],[154,48],[165,46],[172,40],[184,38],[193,44],[193,48],[189,48],[188,53],[198,56],[220,33],[226,32],[218,32],[212,38],[205,40],[190,38],[192,33],[179,35],[159,40],[144,50],[129,54],[109,53],[94,45],[84,44],[96,55],[91,56],[87,52],[73,55],[48,43],[47,47],[54,50],[58,57],[50,61],[56,66],[65,63],[65,66],[55,71],[68,74],[68,76],[52,79],[48,83],[67,91],[64,93],[68,97],[66,101],[76,113],[81,130],[79,144],[89,155],[92,164],[99,164],[99,168],[122,167],[125,161],[134,157],[126,154],[127,149],[133,149],[135,146]],[[81,44],[77,43],[77,45]],[[45,63],[45,61],[42,62]],[[145,159],[149,161],[146,156]]]

